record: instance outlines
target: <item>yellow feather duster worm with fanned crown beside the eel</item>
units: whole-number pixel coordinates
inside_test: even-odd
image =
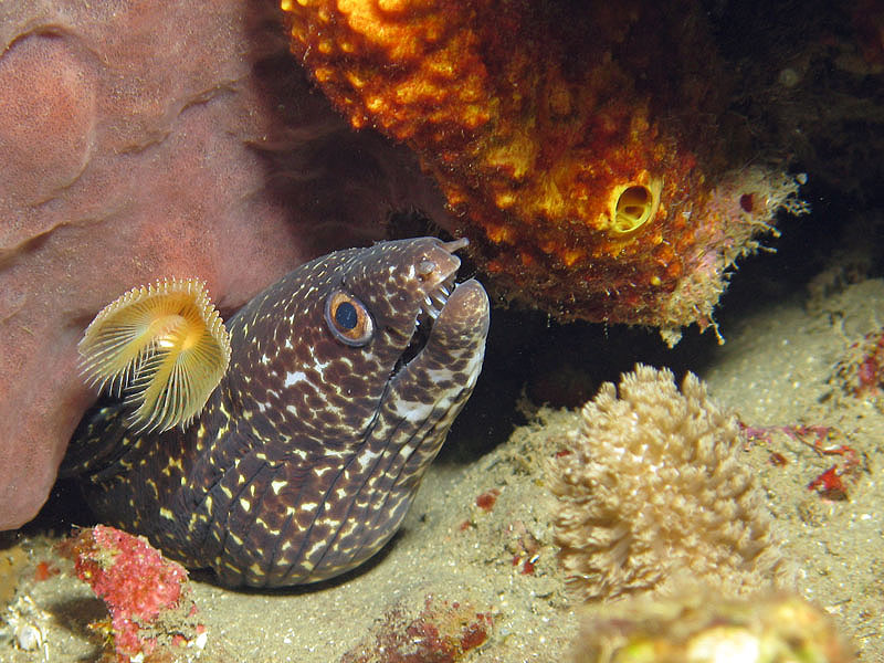
[[[77,346],[86,380],[137,406],[131,423],[190,423],[230,362],[230,338],[202,281],[167,278],[105,306]]]

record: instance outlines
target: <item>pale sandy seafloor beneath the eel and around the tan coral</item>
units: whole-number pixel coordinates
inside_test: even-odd
[[[789,230],[800,228],[796,223]],[[725,345],[715,344],[707,333],[686,338],[667,354],[648,336],[636,341],[642,347],[635,358],[623,351],[623,344],[618,352],[634,361],[653,347],[650,354],[659,365],[671,360],[676,370],[698,372],[712,394],[744,423],[831,427],[827,443],[856,450],[860,465],[848,480],[846,499],[828,499],[808,488],[839,459],[822,456],[786,434],[772,432],[767,441],[747,445],[743,457],[757,469],[800,591],[834,615],[855,643],[860,660],[882,661],[884,413],[874,394],[855,397],[842,389],[845,373],[839,373],[838,366],[841,362],[849,371],[856,360],[853,344],[884,325],[884,280],[857,275],[845,255],[822,265],[810,281],[776,287],[769,280],[777,274],[780,256],[757,259],[767,271],[753,275],[747,269],[745,276],[738,274],[735,288],[743,294],[727,299],[719,314]],[[618,334],[612,328],[606,337]],[[498,348],[491,345],[488,351],[491,357]],[[603,343],[576,341],[561,354],[568,356],[571,370],[578,365],[592,375],[593,362],[607,351]],[[502,407],[487,397],[493,388],[486,385],[485,391],[471,404],[473,412]],[[338,661],[360,643],[373,642],[372,629],[390,610],[400,610],[408,621],[433,597],[436,607],[457,602],[466,618],[491,613],[487,642],[465,661],[567,660],[576,633],[576,606],[557,570],[550,525],[555,499],[546,487],[545,459],[559,449],[561,436],[577,425],[579,415],[538,408],[524,399],[518,409],[528,423],[504,442],[467,461],[451,453],[436,461],[401,533],[360,572],[316,588],[269,594],[230,591],[206,578],[194,579],[193,596],[208,627],[200,659]],[[455,429],[462,438],[449,444],[487,446],[487,441],[464,439],[476,434],[470,430]],[[775,453],[785,465],[771,463]],[[485,511],[476,497],[490,490],[499,495]],[[103,617],[103,606],[72,577],[69,562],[52,551],[55,540],[49,534],[20,534],[3,550],[2,600],[12,600],[14,590],[21,619],[45,636],[49,660],[97,660],[98,638],[87,623]],[[523,572],[526,558],[536,561],[533,573]],[[35,581],[35,565],[44,560],[64,570]],[[22,597],[33,602],[30,613]],[[0,642],[0,661],[43,656],[15,649],[8,638]]]

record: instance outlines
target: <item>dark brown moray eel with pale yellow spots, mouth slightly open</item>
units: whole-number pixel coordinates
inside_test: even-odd
[[[488,298],[465,241],[339,251],[227,324],[231,361],[186,430],[94,409],[65,459],[97,517],[228,586],[324,580],[377,552],[473,390]]]

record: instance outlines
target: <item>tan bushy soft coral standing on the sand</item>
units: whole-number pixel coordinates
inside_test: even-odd
[[[740,594],[785,582],[737,420],[696,376],[636,366],[604,383],[559,453],[556,539],[587,600],[666,591],[685,578]]]

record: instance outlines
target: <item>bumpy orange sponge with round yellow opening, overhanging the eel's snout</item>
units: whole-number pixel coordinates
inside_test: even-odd
[[[796,191],[730,170],[744,152],[694,2],[282,7],[352,126],[418,152],[498,292],[562,319],[709,325],[726,271]]]

